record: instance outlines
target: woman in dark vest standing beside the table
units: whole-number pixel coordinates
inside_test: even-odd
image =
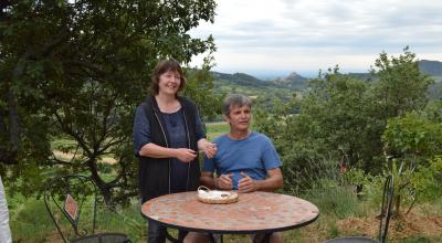
[[[139,160],[141,202],[175,192],[196,190],[200,168],[198,150],[213,157],[196,105],[178,96],[186,85],[181,66],[164,60],[154,68],[151,95],[136,110],[134,149]],[[179,232],[182,240],[186,232]],[[149,222],[148,242],[165,242],[166,228]]]

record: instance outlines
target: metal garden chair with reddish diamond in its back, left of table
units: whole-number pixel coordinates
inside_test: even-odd
[[[123,233],[96,232],[97,188],[87,177],[70,175],[52,179],[44,191],[44,204],[64,242],[130,242]]]

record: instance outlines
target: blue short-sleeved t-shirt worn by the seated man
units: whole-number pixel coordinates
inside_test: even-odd
[[[204,157],[202,171],[217,175],[233,173],[233,189],[238,190],[238,181],[245,172],[253,180],[264,180],[267,170],[282,166],[282,161],[269,137],[251,133],[244,139],[234,140],[223,135],[213,140],[217,144],[217,155],[209,159]]]

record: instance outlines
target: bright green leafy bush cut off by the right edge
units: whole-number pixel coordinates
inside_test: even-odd
[[[407,204],[407,200],[410,201],[410,197],[419,197],[423,201],[441,194],[439,177],[442,171],[442,125],[439,122],[440,113],[434,106],[427,110],[429,112],[408,113],[403,117],[390,119],[382,136],[387,155],[393,157],[390,171],[399,177],[398,194],[403,198],[400,199],[403,204]],[[410,165],[411,169],[406,166],[397,168],[397,160],[401,165]],[[400,203],[402,202],[398,202],[398,208]]]

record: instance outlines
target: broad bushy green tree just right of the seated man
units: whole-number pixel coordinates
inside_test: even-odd
[[[319,172],[314,162],[332,156],[357,166],[365,156],[368,85],[335,68],[311,81],[309,88],[298,104],[299,114],[278,106],[271,119],[257,117],[259,128],[272,137],[284,161],[286,184],[295,187],[308,187],[312,181],[303,178]],[[284,109],[293,110],[296,103]]]

